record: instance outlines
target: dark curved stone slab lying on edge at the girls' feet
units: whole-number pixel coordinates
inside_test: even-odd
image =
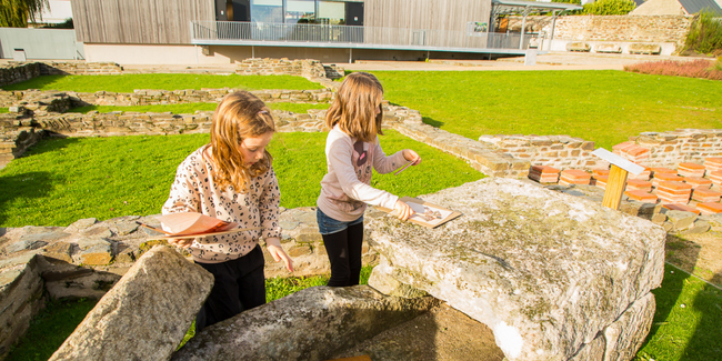
[[[368,285],[313,287],[204,329],[172,360],[328,360],[439,303]]]

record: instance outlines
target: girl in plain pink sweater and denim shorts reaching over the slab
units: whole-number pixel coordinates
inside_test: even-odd
[[[365,72],[347,77],[329,108],[325,124],[331,129],[325,141],[328,173],[321,181],[317,220],[323,237],[331,279],[329,285],[359,284],[363,211],[367,204],[393,209],[399,219],[413,214],[399,197],[371,185],[371,168],[389,173],[407,162],[419,164],[417,152],[404,149],[387,157],[379,144],[383,111],[383,88]]]

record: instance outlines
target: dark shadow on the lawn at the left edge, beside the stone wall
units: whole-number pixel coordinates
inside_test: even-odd
[[[16,207],[9,204],[16,200],[24,201],[32,198],[44,198],[52,184],[49,172],[27,172],[13,176],[0,174],[0,224],[6,224],[10,214],[7,210]]]

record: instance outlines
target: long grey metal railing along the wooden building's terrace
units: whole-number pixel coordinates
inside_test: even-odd
[[[525,34],[522,49],[534,34]],[[194,43],[230,42],[309,42],[403,46],[427,48],[520,49],[519,33],[471,36],[465,31],[377,28],[328,24],[289,24],[240,21],[192,21]]]

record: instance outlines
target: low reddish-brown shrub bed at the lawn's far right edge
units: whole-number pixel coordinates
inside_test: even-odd
[[[642,74],[722,80],[722,62],[718,61],[716,63],[713,63],[712,61],[704,59],[696,59],[692,61],[648,61],[638,64],[625,66],[624,70]]]

